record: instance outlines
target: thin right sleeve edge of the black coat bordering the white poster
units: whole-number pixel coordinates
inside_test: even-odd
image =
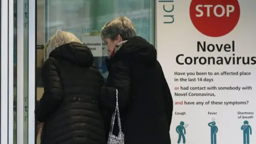
[[[159,66],[161,67],[160,63]],[[173,111],[173,100],[172,100],[172,94],[169,89],[168,83],[165,79],[163,69],[162,70],[162,81],[163,81],[163,94],[164,94],[164,107],[165,107],[165,114],[167,118],[168,126],[171,126],[172,121],[172,111]]]

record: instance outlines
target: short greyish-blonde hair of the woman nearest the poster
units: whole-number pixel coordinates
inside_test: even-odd
[[[132,20],[126,16],[107,22],[100,33],[102,39],[110,38],[114,40],[118,35],[121,35],[123,41],[137,35]]]

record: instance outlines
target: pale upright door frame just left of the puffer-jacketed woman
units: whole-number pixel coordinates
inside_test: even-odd
[[[28,144],[36,143],[36,31],[37,1],[28,0]]]

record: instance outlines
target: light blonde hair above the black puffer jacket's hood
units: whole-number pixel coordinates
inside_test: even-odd
[[[50,53],[57,47],[71,42],[82,43],[74,34],[57,30],[55,35],[50,38],[48,44],[46,45],[45,59],[49,58]]]

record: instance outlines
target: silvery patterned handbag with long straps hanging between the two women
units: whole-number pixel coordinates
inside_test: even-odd
[[[118,128],[119,128],[119,133],[117,136],[113,134],[116,116],[117,116],[117,122],[118,122]],[[110,132],[108,135],[108,144],[124,144],[124,134],[121,129],[121,118],[120,118],[120,114],[119,114],[118,91],[117,90],[116,90],[116,109],[115,109],[115,113],[112,115],[112,119],[111,119],[111,127],[110,127]]]

